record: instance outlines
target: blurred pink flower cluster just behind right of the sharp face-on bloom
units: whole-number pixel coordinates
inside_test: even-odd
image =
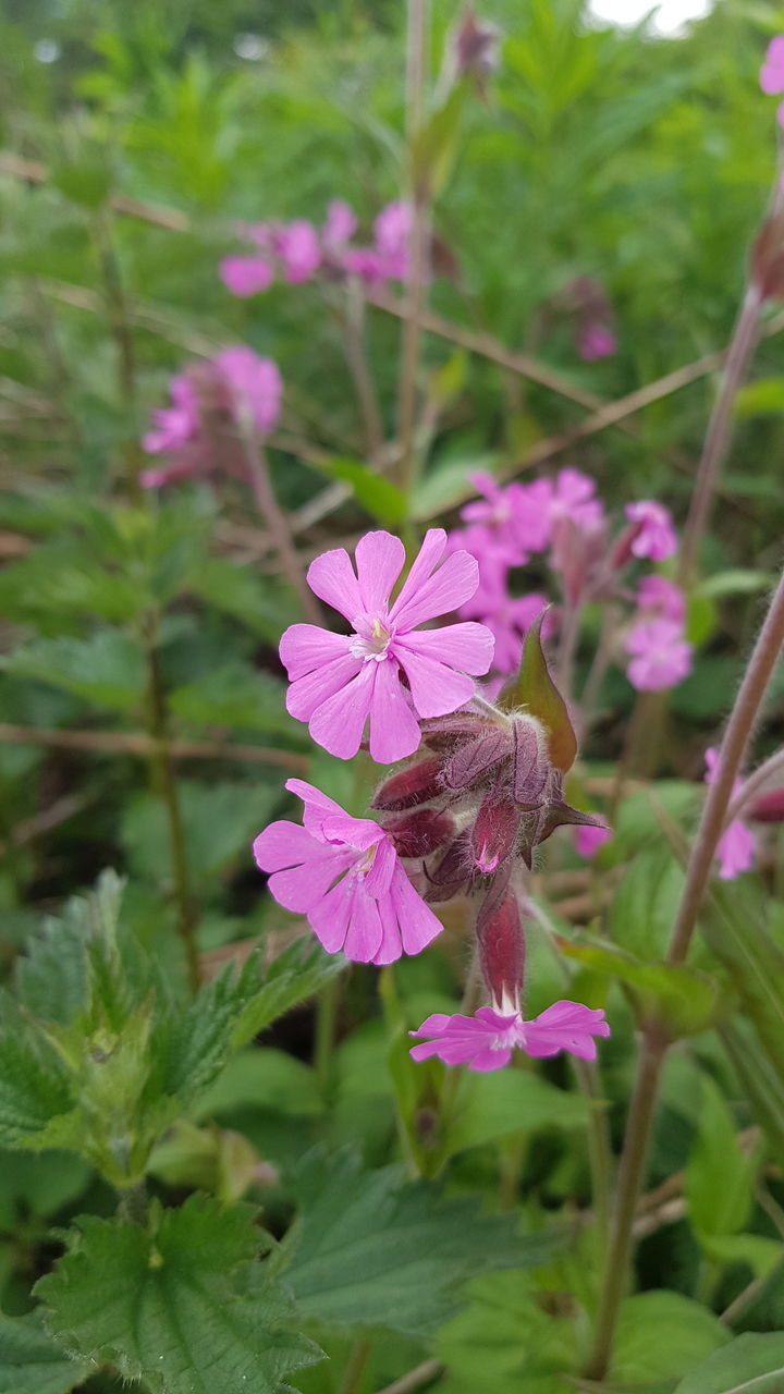
[[[593,480],[579,470],[506,488],[487,474],[473,475],[472,482],[481,499],[463,507],[465,527],[452,533],[449,544],[477,559],[478,587],[459,613],[492,630],[497,672],[515,671],[523,637],[548,604],[538,588],[515,594],[513,573],[536,553],[544,553],[564,608],[591,601],[621,601],[628,606],[632,601],[625,650],[631,657],[626,673],[635,687],[672,687],[689,673],[692,650],[684,637],[682,592],[657,573],[643,576],[636,591],[626,580],[629,566],[638,560],[664,562],[677,551],[672,520],[661,503],[629,503],[626,526],[612,538]],[[548,622],[555,623],[550,616]]]

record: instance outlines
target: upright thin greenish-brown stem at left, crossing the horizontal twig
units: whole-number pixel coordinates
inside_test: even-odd
[[[169,749],[169,730],[166,721],[166,698],[160,679],[156,648],[156,625],[149,620],[145,633],[145,655],[148,673],[148,723],[152,746],[149,751],[152,779],[156,793],[166,810],[169,825],[169,848],[172,856],[172,878],[174,882],[174,899],[177,906],[177,928],[183,941],[190,984],[197,991],[199,986],[198,948],[195,941],[197,916],[191,895],[188,861],[186,852],[186,838],[180,800],[177,796],[177,781],[172,764]]]

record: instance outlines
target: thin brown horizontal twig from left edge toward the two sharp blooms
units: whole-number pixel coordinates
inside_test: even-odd
[[[142,758],[148,758],[155,749],[152,737],[142,730],[50,730],[14,726],[10,722],[0,722],[0,743]],[[241,764],[278,765],[294,774],[307,774],[310,768],[308,757],[296,750],[269,750],[265,746],[240,746],[223,740],[172,740],[169,754],[174,760],[237,760]]]

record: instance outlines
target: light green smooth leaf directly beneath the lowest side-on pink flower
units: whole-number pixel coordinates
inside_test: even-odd
[[[511,1133],[540,1128],[580,1128],[590,1104],[575,1093],[557,1089],[538,1075],[499,1069],[491,1075],[469,1073],[460,1080],[455,1112],[446,1124],[446,1156],[478,1147]]]

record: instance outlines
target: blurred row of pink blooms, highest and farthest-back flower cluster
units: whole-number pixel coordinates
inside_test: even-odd
[[[412,205],[396,199],[381,209],[372,224],[370,244],[353,241],[357,231],[354,210],[343,199],[332,199],[322,227],[304,217],[292,223],[248,223],[237,229],[239,240],[252,252],[225,256],[220,279],[234,296],[257,296],[282,277],[290,286],[322,275],[332,279],[357,277],[368,287],[409,275]]]

